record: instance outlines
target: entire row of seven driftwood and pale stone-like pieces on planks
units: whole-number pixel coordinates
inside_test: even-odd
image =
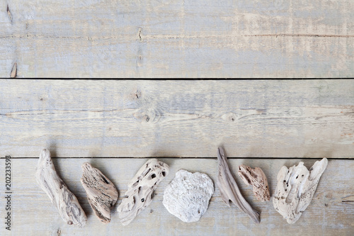
[[[234,174],[229,169],[227,156],[221,147],[218,149],[217,159],[219,167],[217,184],[224,203],[229,206],[229,201],[232,201],[255,223],[260,223],[260,213],[251,207],[239,191]],[[273,206],[287,223],[295,223],[309,206],[327,163],[327,159],[324,158],[320,162],[315,162],[309,170],[304,167],[303,162],[290,169],[287,167],[280,169]],[[82,165],[82,171],[81,184],[93,212],[103,223],[109,223],[110,211],[118,201],[118,190],[110,179],[88,162]],[[117,209],[122,225],[131,223],[149,206],[154,190],[168,174],[169,166],[158,159],[149,159],[139,169],[128,184],[128,190]],[[259,201],[270,200],[268,181],[261,168],[252,169],[241,165],[238,174],[247,185],[253,186],[253,193]],[[84,210],[76,196],[58,176],[48,150],[44,149],[40,153],[36,179],[66,223],[79,227],[86,225]],[[166,187],[163,203],[171,214],[184,222],[194,222],[206,212],[213,193],[214,185],[207,174],[190,173],[181,169]]]

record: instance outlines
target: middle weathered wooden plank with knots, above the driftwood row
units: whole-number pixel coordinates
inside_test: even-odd
[[[353,158],[354,80],[0,80],[0,154]]]

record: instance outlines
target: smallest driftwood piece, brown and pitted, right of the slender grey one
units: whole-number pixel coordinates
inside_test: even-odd
[[[269,201],[268,180],[261,168],[252,169],[244,164],[239,166],[239,176],[247,185],[253,186],[253,194],[259,201]]]

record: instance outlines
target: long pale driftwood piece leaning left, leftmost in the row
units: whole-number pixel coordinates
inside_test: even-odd
[[[86,214],[76,196],[67,188],[67,185],[64,184],[64,181],[60,179],[55,171],[48,150],[44,149],[40,152],[35,178],[40,188],[47,193],[50,201],[59,211],[62,219],[69,225],[84,227],[87,221]]]

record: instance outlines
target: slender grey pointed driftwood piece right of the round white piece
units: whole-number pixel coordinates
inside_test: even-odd
[[[255,223],[260,223],[261,220],[259,218],[258,211],[254,210],[251,205],[249,205],[239,191],[234,175],[227,164],[227,157],[222,147],[219,147],[218,149],[217,161],[219,163],[217,185],[220,189],[222,201],[224,201],[227,206],[230,206],[229,201],[232,201],[240,210],[249,215],[249,218],[251,218]]]

